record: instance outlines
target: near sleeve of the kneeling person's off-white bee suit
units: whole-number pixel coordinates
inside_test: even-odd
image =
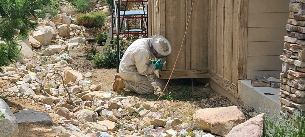
[[[147,51],[141,51],[135,54],[135,66],[138,69],[140,75],[148,75],[155,71],[155,64],[149,64],[149,53]]]

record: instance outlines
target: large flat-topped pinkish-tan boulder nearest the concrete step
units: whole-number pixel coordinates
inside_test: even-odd
[[[195,111],[194,123],[201,130],[225,136],[233,127],[245,122],[244,115],[236,106],[205,108]]]

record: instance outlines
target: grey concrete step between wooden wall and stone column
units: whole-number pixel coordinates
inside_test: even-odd
[[[253,87],[250,79],[239,80],[238,82],[238,96],[240,100],[261,113],[265,113],[265,110],[268,109],[271,113],[275,111],[280,116],[281,104],[278,100],[279,92],[280,88]],[[264,93],[275,95],[265,95]]]

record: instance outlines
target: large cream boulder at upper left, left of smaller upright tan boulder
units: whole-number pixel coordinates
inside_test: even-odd
[[[38,28],[36,31],[33,32],[33,38],[39,41],[42,46],[51,44],[52,37],[53,34],[50,29]]]

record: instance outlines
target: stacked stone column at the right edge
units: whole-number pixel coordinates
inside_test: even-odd
[[[280,75],[282,111],[305,112],[305,0],[291,0]]]

